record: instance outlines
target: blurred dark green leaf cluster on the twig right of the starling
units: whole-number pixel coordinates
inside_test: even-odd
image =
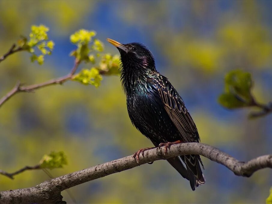
[[[219,96],[219,103],[226,108],[249,106],[252,102],[251,74],[242,70],[233,70],[225,76],[225,93]]]

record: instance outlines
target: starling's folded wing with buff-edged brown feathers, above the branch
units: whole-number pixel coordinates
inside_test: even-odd
[[[185,107],[185,104],[167,78],[156,79],[157,89],[165,110],[182,135],[184,142],[199,142],[195,123]]]

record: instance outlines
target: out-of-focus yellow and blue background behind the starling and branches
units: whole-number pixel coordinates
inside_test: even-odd
[[[28,35],[33,24],[50,28],[56,43],[44,65],[29,53],[0,65],[0,93],[20,80],[46,81],[68,73],[75,46],[69,36],[95,30],[105,52],[118,54],[107,37],[141,42],[169,78],[198,127],[201,142],[239,160],[271,153],[272,116],[248,120],[249,110],[229,111],[217,98],[224,75],[243,69],[254,78],[258,101],[272,99],[272,1],[0,1],[0,55]],[[91,65],[84,65],[89,68]],[[101,86],[67,82],[35,93],[20,93],[0,108],[0,169],[35,165],[50,151],[64,151],[68,165],[54,177],[131,155],[151,146],[129,120],[119,77],[103,77]],[[70,189],[77,203],[264,203],[272,186],[271,170],[250,178],[203,158],[205,185],[191,191],[166,161],[142,165]],[[42,170],[14,180],[0,176],[0,190],[35,186],[49,179]],[[67,192],[64,200],[73,203]]]

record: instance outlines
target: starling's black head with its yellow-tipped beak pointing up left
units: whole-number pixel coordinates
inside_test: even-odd
[[[124,71],[125,69],[137,72],[156,71],[154,57],[143,44],[121,44],[109,38],[107,41],[119,50]]]

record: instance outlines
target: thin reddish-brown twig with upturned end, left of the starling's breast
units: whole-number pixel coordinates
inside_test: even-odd
[[[10,90],[10,92],[8,92],[5,96],[3,96],[0,99],[0,107],[8,99],[10,99],[12,96],[14,96],[16,93],[19,93],[19,92],[33,92],[35,89],[39,89],[41,87],[46,87],[46,86],[53,85],[53,84],[63,84],[65,81],[67,81],[67,80],[69,80],[69,79],[71,79],[73,77],[74,73],[77,71],[77,68],[78,68],[79,64],[80,64],[80,61],[76,59],[75,63],[74,63],[74,67],[71,69],[70,73],[68,73],[65,76],[43,82],[41,84],[32,84],[32,85],[29,85],[29,86],[21,86],[20,82],[17,82],[17,84],[14,86],[14,88],[12,90]]]

